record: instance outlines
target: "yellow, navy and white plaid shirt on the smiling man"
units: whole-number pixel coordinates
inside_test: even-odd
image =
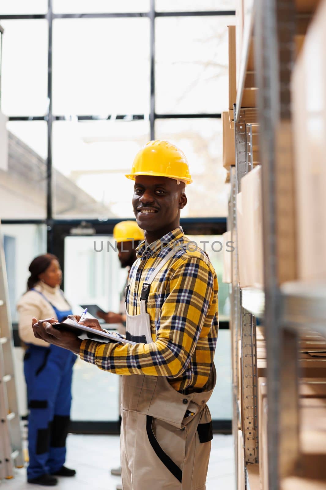
[[[205,390],[218,331],[218,283],[208,256],[181,227],[137,249],[140,265],[130,270],[127,311],[140,314],[141,287],[170,250],[176,252],[154,279],[147,302],[152,343],[82,342],[80,357],[116,374],[165,376],[185,394]]]

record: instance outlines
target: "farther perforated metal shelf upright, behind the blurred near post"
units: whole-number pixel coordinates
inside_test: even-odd
[[[235,109],[235,107],[234,107]],[[253,111],[250,109],[249,120]],[[239,287],[239,268],[237,254],[237,215],[236,196],[241,190],[241,179],[253,170],[253,129],[257,124],[246,123],[246,110],[241,109],[238,121],[234,122],[235,167],[231,168],[231,196],[229,202],[228,228],[232,232],[235,251],[232,254],[232,342],[233,342],[233,434],[241,428],[244,441],[245,466],[258,463],[258,417],[257,417],[257,363],[256,363],[256,318],[244,308],[243,290]],[[238,365],[238,343],[241,342],[241,367]],[[241,371],[241,389],[238,387]],[[238,396],[241,408],[238,405]],[[242,412],[242,413],[241,413]],[[235,441],[235,461],[238,467],[238,448]],[[243,468],[246,475],[245,467]],[[245,477],[246,478],[246,477]],[[237,475],[238,480],[238,475]],[[236,482],[238,486],[238,481]]]

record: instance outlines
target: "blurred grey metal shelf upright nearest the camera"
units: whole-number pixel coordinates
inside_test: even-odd
[[[297,278],[290,111],[294,34],[294,0],[256,2],[270,490],[279,490],[299,455],[297,336],[285,329],[279,290],[282,282]]]

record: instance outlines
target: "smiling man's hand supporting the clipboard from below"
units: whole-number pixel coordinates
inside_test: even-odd
[[[56,323],[57,321],[58,320],[53,318],[48,318],[45,320],[37,320],[36,318],[33,318],[32,328],[34,336],[37,339],[42,339],[48,343],[57,345],[58,347],[71,350],[75,354],[79,354],[80,344],[82,341],[72,332],[54,328],[52,323]]]

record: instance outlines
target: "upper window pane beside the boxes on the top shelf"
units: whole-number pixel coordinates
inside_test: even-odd
[[[159,114],[227,110],[227,26],[232,22],[225,16],[156,20],[155,109]]]

